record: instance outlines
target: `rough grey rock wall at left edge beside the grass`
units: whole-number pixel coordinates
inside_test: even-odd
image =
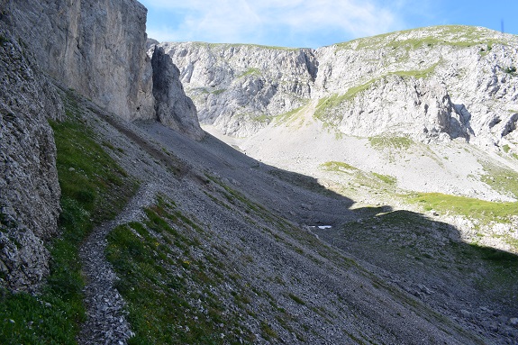
[[[29,57],[29,58],[28,58]],[[0,21],[0,286],[33,290],[48,273],[43,241],[58,233],[54,86]]]

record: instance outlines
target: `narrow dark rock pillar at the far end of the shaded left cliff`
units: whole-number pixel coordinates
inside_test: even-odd
[[[154,48],[151,65],[157,119],[195,140],[201,140],[204,131],[198,123],[195,104],[186,96],[180,83],[178,68],[160,47]]]

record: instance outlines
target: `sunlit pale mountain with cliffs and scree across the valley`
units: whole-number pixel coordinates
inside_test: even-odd
[[[360,204],[423,212],[400,196],[518,197],[517,40],[437,26],[317,50],[159,46],[206,131]],[[445,213],[466,241],[516,252],[515,221],[504,231],[509,241],[498,240],[493,225],[480,231],[469,217]]]

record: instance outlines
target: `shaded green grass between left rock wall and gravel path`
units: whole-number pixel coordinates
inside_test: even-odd
[[[92,139],[72,96],[65,101],[67,119],[51,123],[58,150],[62,235],[50,243],[50,276],[38,295],[0,289],[2,344],[76,343],[79,323],[86,317],[78,247],[95,224],[121,210],[135,189]]]

